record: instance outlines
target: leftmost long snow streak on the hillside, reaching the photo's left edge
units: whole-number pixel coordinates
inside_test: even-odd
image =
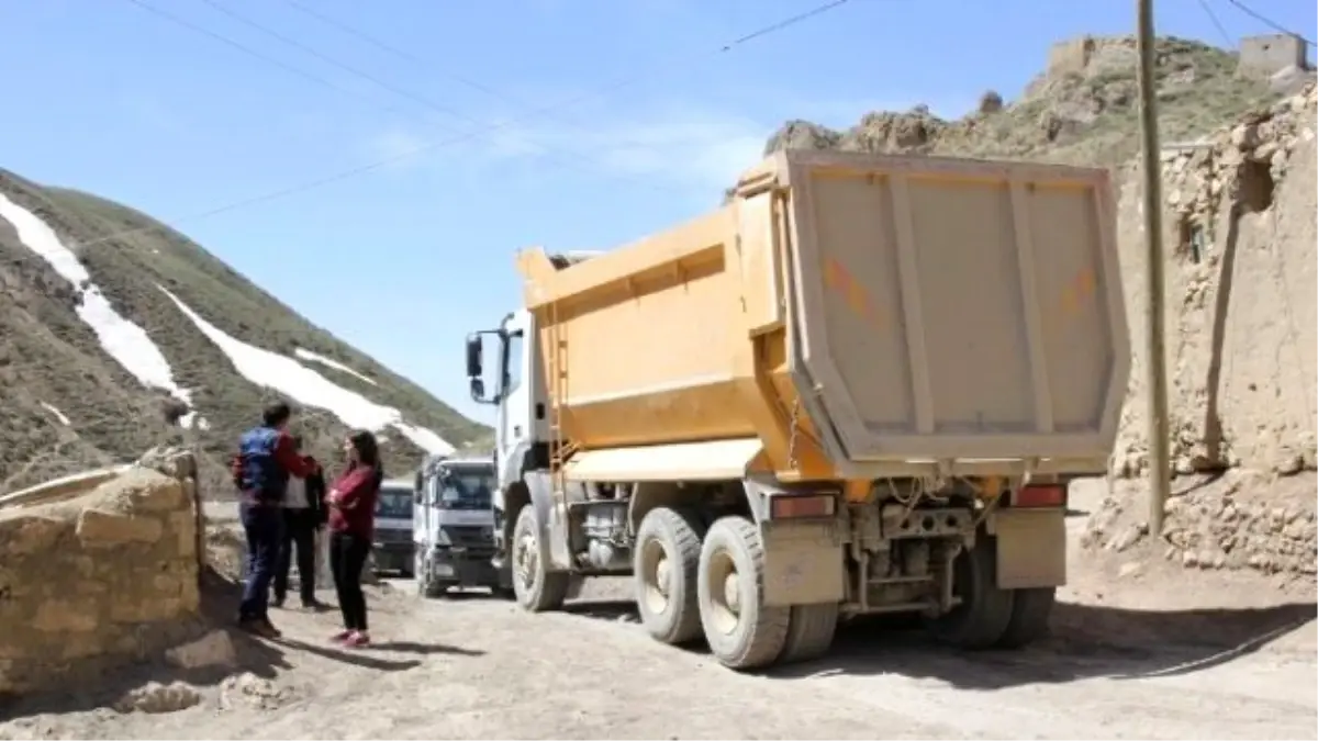
[[[169,392],[191,410],[192,394],[174,382],[169,360],[152,341],[146,330],[115,311],[100,289],[91,282],[91,273],[78,260],[78,254],[59,241],[55,231],[4,194],[0,194],[0,216],[13,224],[18,240],[28,249],[72,283],[80,299],[76,309],[78,318],[96,334],[105,353],[119,361],[144,386]],[[188,411],[179,418],[179,425],[191,427],[194,417],[195,411]]]

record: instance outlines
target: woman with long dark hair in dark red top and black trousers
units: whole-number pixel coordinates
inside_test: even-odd
[[[333,574],[343,632],[333,641],[345,646],[366,646],[366,596],[361,591],[361,572],[370,555],[376,530],[376,498],[385,479],[380,464],[380,446],[366,430],[353,432],[343,446],[348,467],[330,487],[330,571]]]

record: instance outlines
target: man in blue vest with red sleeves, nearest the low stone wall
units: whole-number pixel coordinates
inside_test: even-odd
[[[283,497],[289,477],[306,479],[315,465],[303,459],[289,435],[293,410],[286,402],[265,407],[261,425],[239,438],[233,480],[239,488],[239,514],[246,533],[246,579],[239,607],[239,626],[265,638],[278,638],[270,622],[270,581],[283,539]]]

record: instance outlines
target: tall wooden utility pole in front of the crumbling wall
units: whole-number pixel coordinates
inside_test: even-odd
[[[1136,0],[1140,65],[1140,134],[1144,160],[1144,247],[1148,303],[1145,306],[1144,367],[1148,389],[1149,531],[1162,534],[1162,513],[1172,489],[1170,440],[1166,419],[1166,338],[1162,277],[1162,163],[1157,137],[1157,82],[1153,66],[1153,0]]]

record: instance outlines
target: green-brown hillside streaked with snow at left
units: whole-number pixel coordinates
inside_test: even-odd
[[[220,461],[275,397],[323,460],[349,427],[394,469],[485,432],[186,236],[0,170],[0,494],[171,439],[227,492]]]

